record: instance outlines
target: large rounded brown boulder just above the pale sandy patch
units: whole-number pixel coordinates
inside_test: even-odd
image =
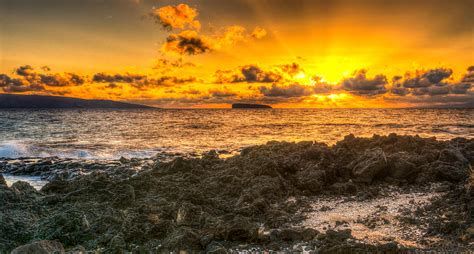
[[[375,176],[387,168],[387,158],[380,148],[365,151],[354,163],[352,174],[355,182],[371,183]]]

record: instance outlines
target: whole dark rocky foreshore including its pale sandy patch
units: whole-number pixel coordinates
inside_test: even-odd
[[[226,159],[215,151],[3,159],[0,173],[49,183],[38,191],[0,177],[0,253],[22,245],[70,253],[474,251],[473,162],[472,139],[395,134],[349,135],[334,146],[268,142]],[[390,230],[413,234],[373,236]]]

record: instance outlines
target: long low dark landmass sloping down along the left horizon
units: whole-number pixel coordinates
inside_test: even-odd
[[[0,108],[143,109],[151,107],[111,100],[84,100],[60,96],[0,94]]]

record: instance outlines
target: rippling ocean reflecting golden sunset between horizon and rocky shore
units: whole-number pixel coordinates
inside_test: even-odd
[[[474,110],[1,110],[0,157],[146,158],[213,149],[233,154],[271,140],[334,144],[351,133],[474,138]]]

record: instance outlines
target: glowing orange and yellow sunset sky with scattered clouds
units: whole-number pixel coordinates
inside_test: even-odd
[[[472,0],[0,0],[0,93],[167,108],[464,105]]]

